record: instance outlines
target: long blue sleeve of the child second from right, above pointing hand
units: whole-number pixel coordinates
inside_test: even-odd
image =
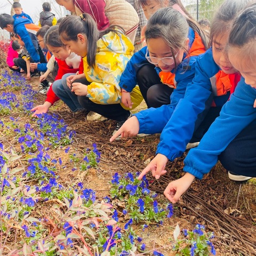
[[[212,54],[202,54],[196,61],[195,77],[186,89],[184,99],[181,99],[173,114],[164,127],[157,146],[157,154],[165,155],[171,161],[186,150],[199,120],[203,120],[204,110],[212,103],[212,86],[210,78],[217,74],[219,67],[215,64]],[[206,68],[209,65],[209,68]],[[198,116],[201,115],[200,118]]]

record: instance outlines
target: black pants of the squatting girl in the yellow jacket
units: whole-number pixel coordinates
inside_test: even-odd
[[[74,83],[90,84],[86,79],[77,79]],[[77,99],[83,108],[115,121],[124,121],[130,116],[130,111],[125,110],[120,104],[97,104],[86,96],[78,96]]]

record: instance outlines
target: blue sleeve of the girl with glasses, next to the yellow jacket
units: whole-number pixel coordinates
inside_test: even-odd
[[[138,70],[145,65],[145,63],[149,63],[145,57],[146,50],[147,46],[134,53],[132,58],[127,62],[127,65],[121,75],[119,86],[127,92],[131,92],[137,85]]]

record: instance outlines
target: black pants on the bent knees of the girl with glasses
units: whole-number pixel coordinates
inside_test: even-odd
[[[155,65],[151,63],[143,65],[137,72],[137,82],[148,108],[158,108],[170,104],[173,88],[162,84],[156,73]]]

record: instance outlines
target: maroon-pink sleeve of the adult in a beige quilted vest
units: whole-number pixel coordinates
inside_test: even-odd
[[[99,30],[105,30],[109,27],[109,20],[105,14],[106,2],[104,0],[74,0],[74,4],[76,9],[79,9],[82,13],[89,13],[93,17]]]

